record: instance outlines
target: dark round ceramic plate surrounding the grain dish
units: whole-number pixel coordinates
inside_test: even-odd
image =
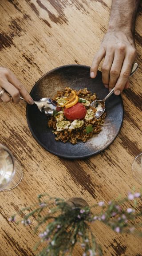
[[[32,88],[31,96],[35,101],[40,98],[52,98],[57,90],[69,86],[72,89],[87,88],[92,93],[97,93],[103,99],[107,93],[102,82],[102,73],[98,71],[97,77],[91,79],[90,67],[84,65],[66,65],[53,69],[43,75]],[[105,150],[117,137],[123,122],[123,102],[121,96],[114,94],[106,101],[106,118],[103,129],[87,142],[55,141],[52,129],[47,126],[47,116],[41,114],[36,105],[27,105],[27,121],[29,129],[36,141],[52,154],[64,158],[86,158]]]

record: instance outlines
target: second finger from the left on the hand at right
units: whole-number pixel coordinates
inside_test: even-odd
[[[109,84],[110,68],[112,66],[113,59],[114,59],[114,52],[111,51],[110,49],[106,52],[106,56],[102,65],[102,79],[103,79],[103,84],[106,88],[108,88],[108,84]]]

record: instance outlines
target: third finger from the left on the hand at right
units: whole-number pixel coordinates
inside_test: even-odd
[[[109,89],[112,90],[118,80],[118,77],[121,72],[123,60],[125,57],[125,45],[119,44],[118,48],[114,53],[114,61],[110,69],[110,80],[109,80]]]

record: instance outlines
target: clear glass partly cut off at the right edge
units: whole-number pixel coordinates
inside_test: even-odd
[[[142,153],[138,154],[134,159],[132,171],[134,178],[138,181],[138,183],[142,184]]]

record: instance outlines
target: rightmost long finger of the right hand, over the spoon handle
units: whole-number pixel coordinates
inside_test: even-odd
[[[122,92],[122,90],[125,88],[125,85],[126,87],[128,86],[128,84],[126,83],[128,81],[128,77],[130,76],[133,61],[134,61],[134,56],[132,56],[131,54],[127,54],[122,65],[120,76],[115,85],[115,89],[114,89],[115,95],[119,95]]]

